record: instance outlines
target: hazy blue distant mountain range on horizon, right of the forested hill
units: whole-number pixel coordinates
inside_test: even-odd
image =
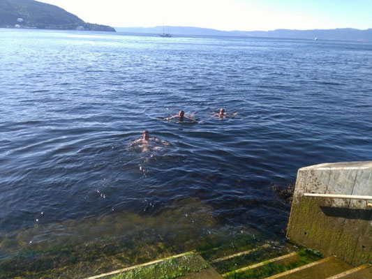
[[[132,33],[162,33],[163,27],[116,27],[116,30],[118,32]],[[178,35],[202,36],[244,36],[298,39],[318,38],[319,40],[372,41],[372,29],[359,30],[352,28],[313,30],[276,29],[274,31],[221,31],[199,27],[170,27],[170,33]]]

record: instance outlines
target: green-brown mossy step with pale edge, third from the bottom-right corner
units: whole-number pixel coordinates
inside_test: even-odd
[[[282,273],[290,269],[295,269],[298,266],[304,266],[308,263],[315,262],[320,259],[319,255],[316,255],[311,250],[302,249],[297,252],[292,252],[288,255],[269,259],[265,262],[246,266],[242,269],[230,271],[223,274],[224,278],[267,278],[277,273]]]

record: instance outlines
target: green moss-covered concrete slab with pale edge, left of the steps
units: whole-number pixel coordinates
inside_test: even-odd
[[[186,252],[165,259],[119,269],[110,273],[92,276],[87,279],[174,279],[174,278],[198,278],[198,272],[208,273],[209,278],[221,278],[216,271],[204,261],[200,255],[194,252]],[[191,276],[191,277],[190,277]],[[213,277],[212,277],[213,276]]]

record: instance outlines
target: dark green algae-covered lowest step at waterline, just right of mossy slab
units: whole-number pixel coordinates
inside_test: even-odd
[[[281,256],[285,252],[288,252],[288,250],[264,245],[234,255],[214,259],[211,261],[211,266],[213,266],[218,273],[224,274],[236,269],[241,269],[244,266],[262,262],[265,259]]]

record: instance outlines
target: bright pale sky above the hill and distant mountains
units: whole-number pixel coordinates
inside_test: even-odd
[[[224,31],[372,28],[372,0],[38,0],[85,22]]]

